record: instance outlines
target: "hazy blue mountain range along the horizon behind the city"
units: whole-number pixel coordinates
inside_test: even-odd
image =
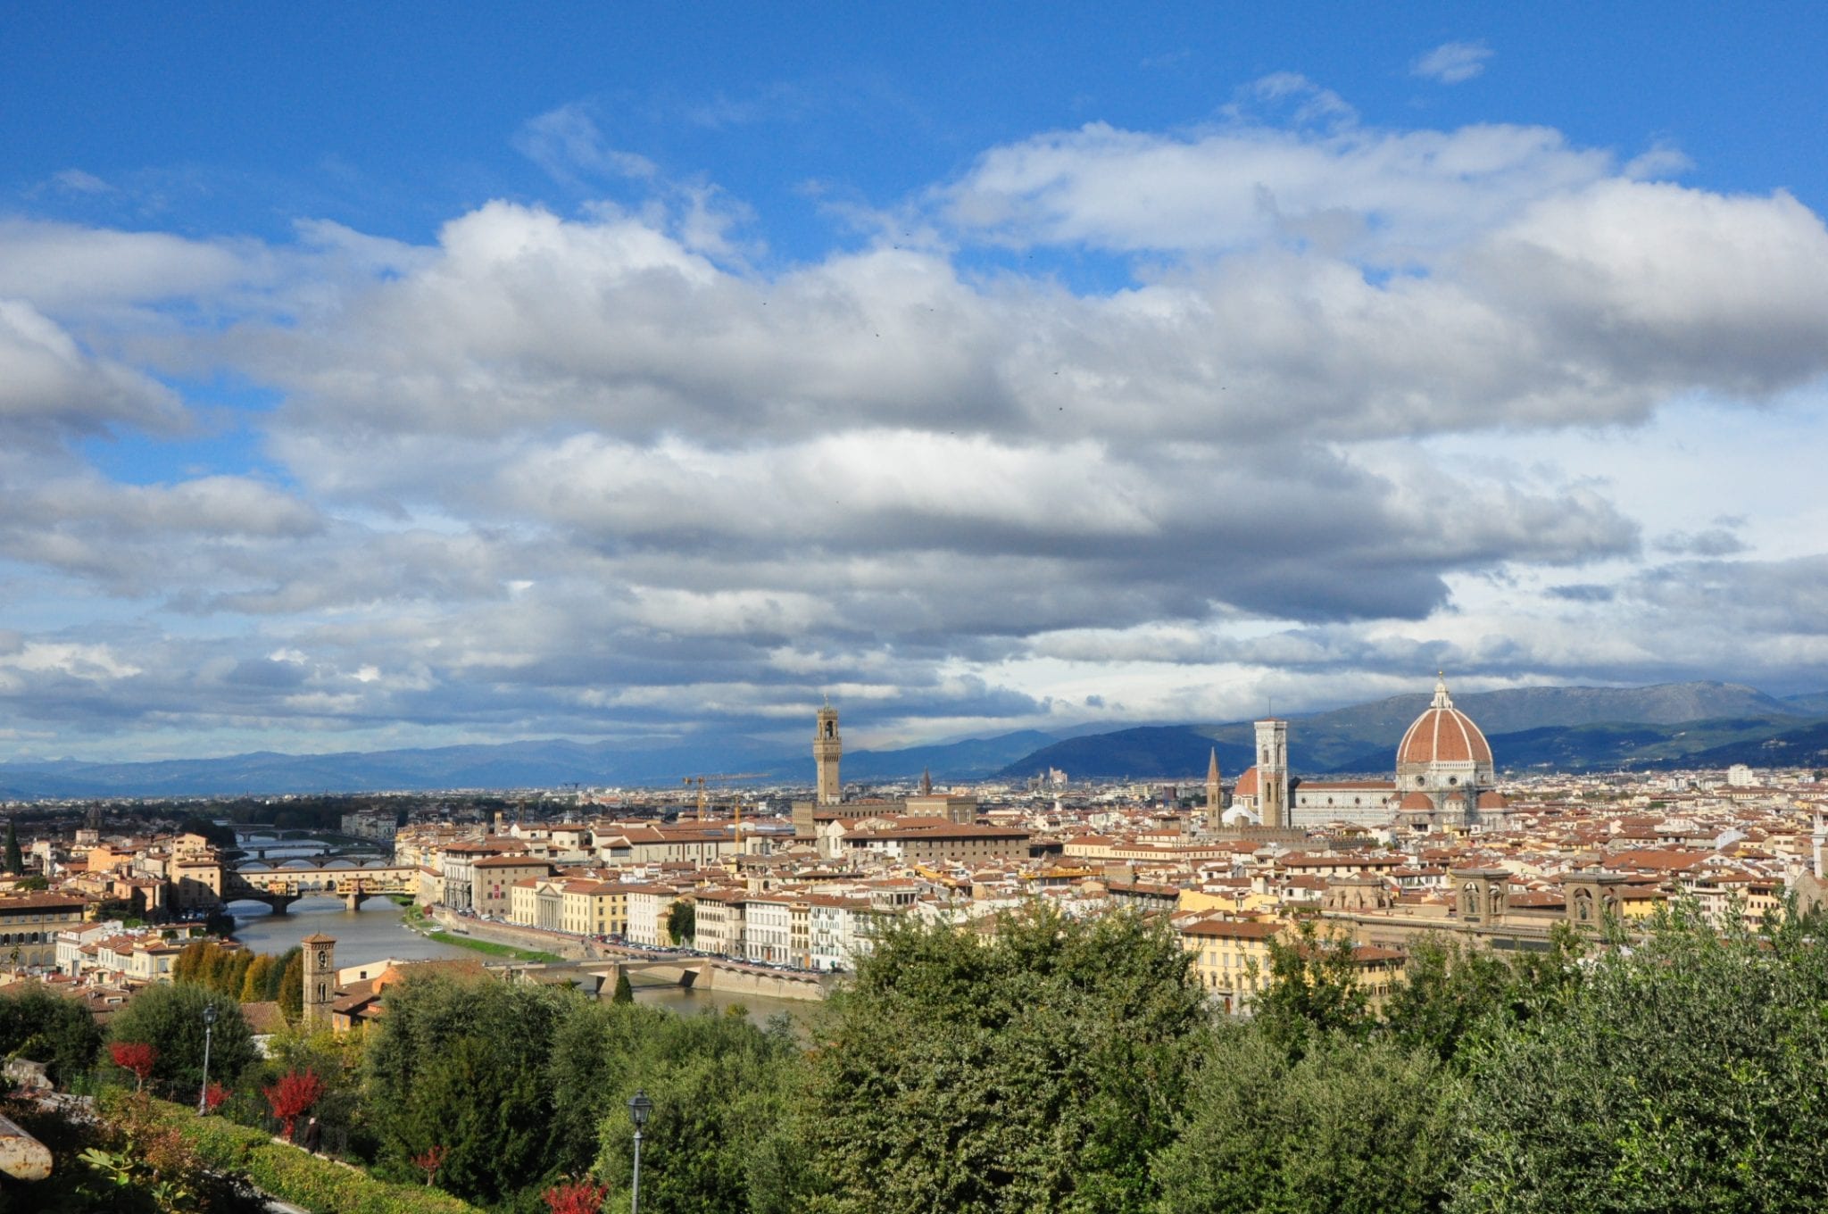
[[[1289,759],[1305,773],[1387,773],[1397,742],[1429,695],[1398,695],[1291,717]],[[1612,770],[1749,762],[1828,766],[1828,693],[1790,698],[1722,682],[1651,687],[1515,687],[1455,697],[1503,770]],[[1077,733],[1077,737],[1068,737]],[[1217,750],[1227,777],[1252,761],[1249,720],[1148,724],[1086,733],[1020,729],[905,750],[857,750],[846,783],[890,783],[930,770],[940,781],[1071,777],[1203,781]],[[665,786],[700,772],[755,772],[812,783],[810,746],[722,739],[634,746],[534,740],[494,746],[285,755],[258,751],[157,762],[0,764],[0,799],[177,797],[448,788]]]

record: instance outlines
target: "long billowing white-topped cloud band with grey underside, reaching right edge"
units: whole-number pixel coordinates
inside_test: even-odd
[[[689,433],[759,457],[872,426],[1351,442],[1631,422],[1689,388],[1768,395],[1828,369],[1828,240],[1793,203],[1609,183],[1514,210],[1428,274],[1371,282],[1263,249],[1075,298],[881,249],[760,282],[629,218],[497,203],[448,225],[419,271],[228,351],[292,389],[276,450],[325,488],[360,486],[377,441],[420,435],[481,450],[552,428],[636,448]],[[1614,229],[1673,236],[1607,261],[1596,241]],[[1760,240],[1777,252],[1748,261]],[[1669,256],[1713,269],[1645,269]]]

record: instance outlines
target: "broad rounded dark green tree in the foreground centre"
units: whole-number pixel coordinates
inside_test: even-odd
[[[888,927],[819,1031],[819,1209],[1146,1210],[1205,1026],[1164,923]]]

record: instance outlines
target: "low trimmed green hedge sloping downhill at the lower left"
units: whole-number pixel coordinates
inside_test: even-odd
[[[197,1117],[179,1104],[155,1101],[212,1172],[245,1176],[250,1185],[325,1214],[477,1214],[477,1207],[420,1185],[389,1185],[367,1172],[320,1159],[298,1146],[238,1126],[223,1117]]]

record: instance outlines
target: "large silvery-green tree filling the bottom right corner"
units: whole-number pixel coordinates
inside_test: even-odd
[[[1472,1055],[1457,1214],[1819,1210],[1828,951],[1665,910]]]

